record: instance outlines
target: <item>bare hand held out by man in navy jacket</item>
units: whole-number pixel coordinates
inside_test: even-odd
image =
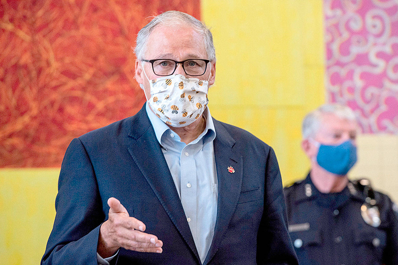
[[[98,238],[97,252],[101,257],[110,257],[119,248],[162,253],[163,242],[152,234],[144,233],[145,224],[130,217],[118,199],[109,198],[108,205],[109,218],[101,225]]]

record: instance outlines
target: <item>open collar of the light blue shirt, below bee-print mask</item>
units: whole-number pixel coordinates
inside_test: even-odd
[[[154,114],[151,110],[150,106],[145,103],[146,114],[148,114],[148,118],[152,124],[152,127],[155,131],[156,139],[162,147],[164,147],[164,143],[162,142],[162,136],[167,132],[172,132],[172,130],[167,126],[158,116]],[[191,143],[197,143],[201,139],[203,139],[203,146],[207,143],[213,141],[216,137],[216,129],[214,127],[213,118],[211,117],[210,110],[208,107],[205,108],[203,115],[206,120],[205,130],[197,137],[197,139],[193,140]],[[176,141],[180,141],[177,133],[175,133]]]

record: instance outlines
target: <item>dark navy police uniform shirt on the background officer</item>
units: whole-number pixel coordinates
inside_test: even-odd
[[[397,206],[375,191],[380,225],[361,215],[365,195],[352,182],[321,193],[307,178],[284,189],[289,234],[300,264],[398,265]]]

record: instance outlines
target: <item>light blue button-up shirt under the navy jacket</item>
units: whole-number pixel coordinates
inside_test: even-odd
[[[160,120],[148,104],[146,104],[146,113],[162,147],[199,258],[203,263],[214,236],[218,199],[213,148],[216,130],[209,108],[203,112],[206,119],[205,130],[188,144],[181,142],[178,134]]]

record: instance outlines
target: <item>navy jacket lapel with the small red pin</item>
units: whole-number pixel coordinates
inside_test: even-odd
[[[219,121],[215,119],[213,119],[213,121],[217,133],[213,143],[219,195],[217,203],[217,221],[213,241],[203,264],[208,263],[213,258],[224,237],[238,203],[243,176],[242,156],[232,150],[235,140]],[[229,172],[229,166],[232,166],[234,170],[233,173]],[[231,169],[231,171],[233,170]]]

